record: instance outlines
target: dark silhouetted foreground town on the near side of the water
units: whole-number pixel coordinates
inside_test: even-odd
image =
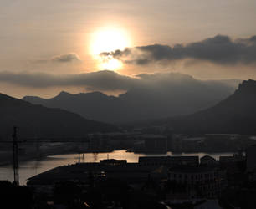
[[[253,208],[255,153],[252,145],[219,160],[141,156],[136,163],[105,159],[59,166],[28,179],[28,208]]]

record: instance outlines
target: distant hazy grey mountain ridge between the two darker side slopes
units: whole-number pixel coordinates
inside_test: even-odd
[[[151,75],[141,74],[142,76]],[[100,92],[61,92],[52,99],[33,96],[26,96],[23,99],[33,104],[69,110],[90,120],[113,123],[191,114],[217,104],[234,90],[233,84],[228,84],[227,80],[202,81],[185,74],[168,76],[167,79],[163,79],[154,75],[151,84],[141,84],[118,97]]]

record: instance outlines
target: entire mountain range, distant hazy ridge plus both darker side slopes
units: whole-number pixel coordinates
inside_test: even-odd
[[[150,92],[148,88],[131,89],[125,94],[120,94],[119,97],[108,96],[100,92],[86,94],[61,92],[53,99],[25,97],[21,100],[0,94],[1,137],[10,135],[13,125],[18,125],[21,128],[22,135],[30,137],[38,135],[51,137],[81,136],[95,131],[113,131],[116,130],[114,125],[85,120],[81,115],[99,117],[102,120],[107,115],[110,118],[106,120],[110,120],[112,117],[110,121],[145,119],[146,113],[148,118],[153,118],[153,116],[161,118],[161,115],[157,115],[157,113],[161,112],[162,115],[166,116],[175,113],[174,110],[179,110],[179,113],[184,110],[183,114],[185,114],[212,103],[215,104],[204,110],[187,115],[150,120],[147,125],[167,125],[177,133],[256,133],[255,80],[243,81],[238,85],[238,89],[234,90],[233,94],[228,94],[232,89],[231,87],[220,82],[202,82],[195,79],[190,81],[192,81],[190,85],[186,82],[185,84],[180,82],[176,85],[172,84],[173,88],[169,89],[169,92],[171,92],[169,94],[167,88],[165,89],[163,86],[160,86],[159,89],[151,89]],[[175,92],[176,94],[174,94]],[[215,97],[212,96],[213,93]],[[228,94],[226,99],[220,99],[225,94]],[[170,98],[177,100],[171,102],[172,99]],[[34,104],[24,101],[25,99]],[[216,103],[218,99],[221,101]],[[167,101],[169,101],[168,104],[163,104]],[[200,102],[202,102],[201,105],[199,105]],[[45,106],[58,105],[59,108],[44,107],[41,104]],[[178,109],[177,104],[180,104],[180,109]],[[74,112],[83,110],[83,112],[78,115],[69,112],[67,109]],[[153,110],[157,111],[152,112]]]

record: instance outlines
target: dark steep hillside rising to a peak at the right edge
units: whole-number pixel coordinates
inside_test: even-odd
[[[256,133],[256,81],[247,80],[217,105],[196,114],[158,120],[181,133]]]

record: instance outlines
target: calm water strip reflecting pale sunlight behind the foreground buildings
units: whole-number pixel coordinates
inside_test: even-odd
[[[137,162],[139,156],[166,156],[166,155],[198,155],[202,157],[206,153],[181,153],[173,154],[167,152],[166,154],[136,154],[133,152],[126,152],[125,150],[116,150],[109,153],[84,153],[80,155],[81,162],[99,162],[100,160],[118,159],[127,160],[128,162]],[[213,153],[212,155],[218,160],[220,155],[233,155],[233,153]],[[23,161],[19,163],[19,181],[21,185],[25,185],[29,177],[35,176],[41,172],[48,171],[57,166],[64,166],[78,162],[78,154],[67,155],[51,155],[41,160]],[[0,166],[0,180],[13,181],[13,166]]]

